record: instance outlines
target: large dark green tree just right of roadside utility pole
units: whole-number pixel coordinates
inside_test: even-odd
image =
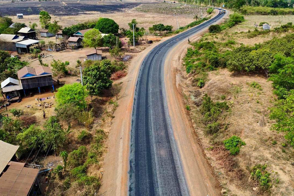
[[[108,69],[110,66],[111,62],[109,60],[103,60],[103,62],[96,62],[83,70],[83,82],[89,91],[91,99],[93,96],[99,95],[102,89],[111,87],[111,72]]]

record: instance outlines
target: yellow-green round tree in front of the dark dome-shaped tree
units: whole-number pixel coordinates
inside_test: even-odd
[[[91,29],[84,35],[83,43],[85,46],[93,47],[95,49],[103,46],[103,39],[101,33],[97,29]]]

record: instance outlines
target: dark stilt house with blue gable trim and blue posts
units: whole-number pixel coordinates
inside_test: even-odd
[[[27,89],[33,91],[38,88],[39,93],[41,93],[41,87],[46,90],[48,86],[50,86],[50,89],[52,87],[54,91],[53,72],[49,67],[38,66],[32,68],[26,66],[18,70],[17,75],[25,95]]]

